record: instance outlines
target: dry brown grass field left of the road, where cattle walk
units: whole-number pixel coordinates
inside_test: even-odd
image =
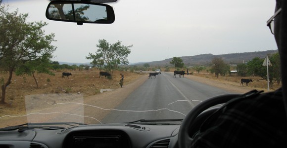
[[[62,72],[55,72],[55,76],[36,74],[39,88],[32,76],[16,76],[13,74],[11,84],[6,88],[5,104],[0,105],[0,116],[10,114],[25,114],[25,96],[33,94],[51,93],[80,93],[84,97],[100,93],[100,89],[119,88],[120,73],[124,74],[124,85],[138,79],[142,74],[119,72],[113,73],[112,79],[99,78],[99,71],[66,71],[72,73],[69,78],[61,78]],[[8,74],[1,73],[0,78],[7,80]]]

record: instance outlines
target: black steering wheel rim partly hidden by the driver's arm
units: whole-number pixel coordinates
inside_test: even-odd
[[[189,135],[190,129],[192,129],[192,123],[195,121],[196,117],[203,111],[210,107],[218,104],[226,103],[231,99],[238,97],[240,94],[225,94],[219,95],[207,100],[202,101],[200,104],[195,106],[183,120],[178,135],[179,148],[190,148],[192,138]],[[194,124],[193,124],[194,125]]]

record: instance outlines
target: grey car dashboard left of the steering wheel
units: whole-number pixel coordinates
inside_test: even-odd
[[[0,148],[177,148],[179,128],[119,123],[0,131]]]

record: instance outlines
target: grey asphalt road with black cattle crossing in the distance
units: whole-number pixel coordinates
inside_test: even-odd
[[[101,121],[123,123],[139,119],[179,119],[200,101],[229,94],[222,90],[188,78],[173,77],[161,73],[156,78],[147,78],[143,85],[132,92],[117,108]]]

